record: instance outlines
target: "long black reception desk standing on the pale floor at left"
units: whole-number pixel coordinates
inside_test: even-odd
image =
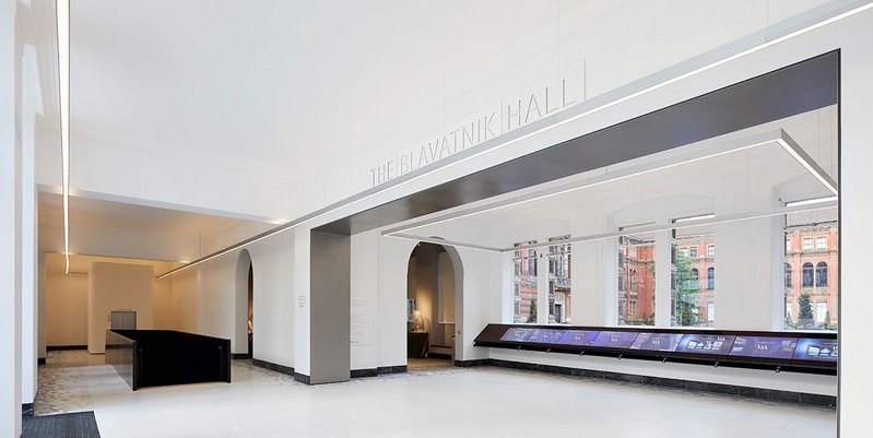
[[[109,330],[106,363],[132,390],[231,382],[231,341],[174,330]]]

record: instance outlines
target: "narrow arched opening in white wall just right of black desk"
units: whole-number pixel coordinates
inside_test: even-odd
[[[235,304],[234,357],[251,358],[255,351],[255,270],[251,254],[245,249],[236,262]]]

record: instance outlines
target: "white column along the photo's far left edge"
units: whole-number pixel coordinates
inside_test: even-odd
[[[21,435],[21,138],[15,1],[0,0],[0,438]]]

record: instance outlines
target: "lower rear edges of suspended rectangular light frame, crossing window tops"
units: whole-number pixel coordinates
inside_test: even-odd
[[[670,224],[650,225],[650,226],[636,228],[633,232],[628,232],[627,229],[623,229],[623,230],[611,232],[611,233],[594,234],[594,235],[590,235],[590,236],[570,237],[570,238],[566,238],[566,239],[556,239],[556,240],[551,240],[551,241],[542,241],[542,242],[538,242],[538,244],[519,245],[517,247],[507,247],[507,248],[496,248],[496,247],[488,247],[488,246],[475,245],[475,244],[463,244],[463,242],[457,242],[457,241],[443,240],[443,239],[434,238],[434,237],[415,236],[415,235],[402,234],[402,233],[393,234],[393,235],[388,236],[388,237],[405,239],[405,240],[421,240],[421,241],[427,241],[427,242],[430,242],[430,244],[450,245],[450,246],[453,246],[453,247],[468,248],[468,249],[473,249],[473,250],[477,250],[477,251],[503,253],[503,252],[518,251],[518,250],[522,250],[522,249],[535,249],[535,248],[543,248],[543,247],[550,247],[550,246],[556,246],[556,245],[566,245],[566,244],[577,244],[577,242],[605,240],[605,239],[611,239],[611,238],[615,238],[615,237],[618,237],[618,236],[626,236],[628,233],[648,234],[648,233],[668,232],[668,230],[671,230],[671,229],[682,229],[682,228],[698,227],[698,226],[706,226],[706,225],[719,225],[719,224],[728,224],[728,223],[732,223],[732,222],[751,221],[751,220],[764,218],[764,217],[772,217],[772,216],[779,216],[779,215],[789,214],[789,213],[801,213],[801,212],[809,212],[809,211],[815,211],[815,210],[826,210],[826,209],[833,209],[835,206],[837,206],[836,200],[834,200],[833,198],[828,197],[828,198],[822,198],[822,199],[817,199],[817,200],[809,200],[807,203],[800,204],[800,205],[797,205],[797,206],[784,206],[784,208],[780,208],[780,209],[767,210],[767,211],[757,212],[757,213],[731,214],[731,215],[725,215],[725,216],[718,217],[718,218],[715,217],[715,215],[707,214],[707,215],[703,215],[699,218],[694,220],[694,221],[688,220],[686,222],[681,222],[681,223],[674,222],[674,223],[670,223]],[[707,220],[705,217],[708,217],[709,220]]]

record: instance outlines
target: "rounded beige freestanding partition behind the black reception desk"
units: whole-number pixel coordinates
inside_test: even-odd
[[[110,310],[137,311],[137,329],[154,328],[154,269],[94,262],[87,276],[87,351],[104,353]]]

